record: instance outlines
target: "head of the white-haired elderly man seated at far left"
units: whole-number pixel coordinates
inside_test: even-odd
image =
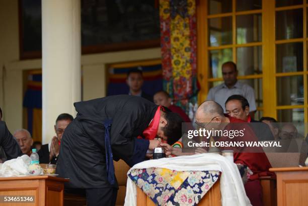
[[[24,155],[30,156],[32,153],[33,140],[30,132],[27,129],[18,129],[13,134],[20,146]]]

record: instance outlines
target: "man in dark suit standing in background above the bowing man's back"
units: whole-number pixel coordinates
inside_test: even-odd
[[[126,84],[129,87],[129,95],[143,97],[144,99],[153,102],[153,97],[141,90],[143,85],[143,76],[141,70],[129,70],[127,73]]]

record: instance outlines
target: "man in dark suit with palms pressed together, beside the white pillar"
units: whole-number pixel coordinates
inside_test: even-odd
[[[37,152],[40,158],[40,163],[44,164],[57,164],[57,159],[60,151],[60,144],[62,139],[62,134],[67,127],[67,125],[73,120],[70,114],[60,114],[55,122],[54,131],[56,136],[53,136],[51,143],[43,145],[41,149]]]

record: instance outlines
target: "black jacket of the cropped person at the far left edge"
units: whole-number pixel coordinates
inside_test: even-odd
[[[0,121],[0,146],[4,150],[7,160],[17,158],[23,154],[4,121]]]

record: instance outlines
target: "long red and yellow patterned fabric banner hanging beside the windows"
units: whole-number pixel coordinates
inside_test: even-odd
[[[192,118],[199,90],[195,0],[160,0],[160,21],[164,90]]]

